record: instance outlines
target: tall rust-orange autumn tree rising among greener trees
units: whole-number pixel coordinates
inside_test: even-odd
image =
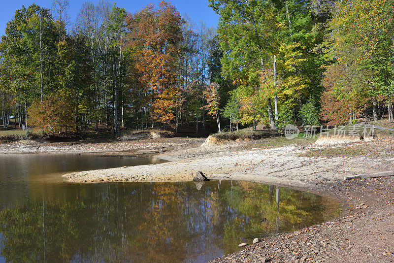
[[[182,41],[184,23],[171,4],[161,1],[159,8],[152,4],[126,18],[129,33],[127,48],[133,51],[138,82],[152,94],[152,117],[170,123],[176,115],[176,57]]]

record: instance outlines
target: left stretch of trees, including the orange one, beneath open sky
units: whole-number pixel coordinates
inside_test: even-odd
[[[201,120],[205,128],[213,29],[165,1],[135,13],[84,2],[74,23],[67,8],[67,0],[55,0],[51,10],[22,6],[7,23],[0,43],[3,128],[11,116],[43,132],[116,133]]]

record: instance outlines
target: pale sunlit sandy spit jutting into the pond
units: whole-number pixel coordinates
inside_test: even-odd
[[[144,141],[143,150],[138,148],[131,150],[132,146],[127,143],[128,148],[125,147],[125,143],[113,147],[119,149],[125,147],[128,149],[127,154],[155,153],[156,157],[171,161],[169,163],[75,172],[66,174],[65,177],[70,182],[190,181],[197,171],[202,171],[211,179],[231,178],[315,189],[321,182],[342,181],[345,175],[385,171],[391,169],[394,163],[394,158],[302,156],[315,149],[327,147],[314,144],[289,144],[278,148],[261,149],[249,148],[248,142],[198,147],[202,140],[178,139],[175,146],[171,139],[162,140],[162,142]],[[133,144],[139,146],[138,143]],[[360,144],[365,147],[384,147],[384,142],[379,141],[355,145]],[[81,146],[86,152],[87,148]],[[107,148],[99,147],[104,150]]]

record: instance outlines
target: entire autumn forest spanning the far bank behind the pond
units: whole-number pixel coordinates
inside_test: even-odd
[[[1,124],[197,134],[393,122],[394,0],[209,0],[217,28],[169,2],[135,13],[68,1],[15,11],[0,42]]]

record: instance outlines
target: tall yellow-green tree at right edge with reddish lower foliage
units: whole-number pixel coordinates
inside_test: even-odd
[[[332,32],[329,54],[335,63],[328,67],[325,86],[331,94],[323,97],[326,106],[322,108],[329,120],[349,119],[352,122],[369,103],[374,120],[379,117],[378,104],[386,102],[390,113],[394,51],[392,14],[391,0],[337,3],[328,24]],[[343,105],[347,111],[330,109],[329,96],[338,103],[348,101]]]

